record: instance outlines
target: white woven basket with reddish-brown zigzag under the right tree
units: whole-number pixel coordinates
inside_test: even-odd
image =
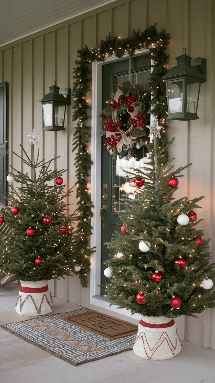
[[[138,326],[134,353],[144,359],[170,359],[181,351],[174,320],[164,316],[142,316]]]

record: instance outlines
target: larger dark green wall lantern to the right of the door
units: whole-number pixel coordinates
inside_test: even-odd
[[[191,59],[192,57],[186,55],[185,49],[185,54],[176,57],[177,66],[172,67],[161,77],[166,81],[167,119],[181,121],[199,119],[197,108],[200,85],[206,81],[206,59],[198,57],[193,60],[192,66]]]

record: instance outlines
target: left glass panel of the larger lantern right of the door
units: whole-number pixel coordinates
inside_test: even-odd
[[[180,113],[183,111],[183,81],[167,83],[167,98],[169,113]]]

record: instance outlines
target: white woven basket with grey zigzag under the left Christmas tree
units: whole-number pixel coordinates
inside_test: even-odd
[[[48,281],[21,281],[16,301],[16,313],[26,316],[38,316],[51,313],[54,309]]]

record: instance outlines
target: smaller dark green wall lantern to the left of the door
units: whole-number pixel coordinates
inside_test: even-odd
[[[64,121],[66,106],[71,103],[71,89],[65,88],[62,95],[59,89],[54,81],[54,85],[49,87],[49,93],[39,101],[43,107],[43,130],[66,130]]]

